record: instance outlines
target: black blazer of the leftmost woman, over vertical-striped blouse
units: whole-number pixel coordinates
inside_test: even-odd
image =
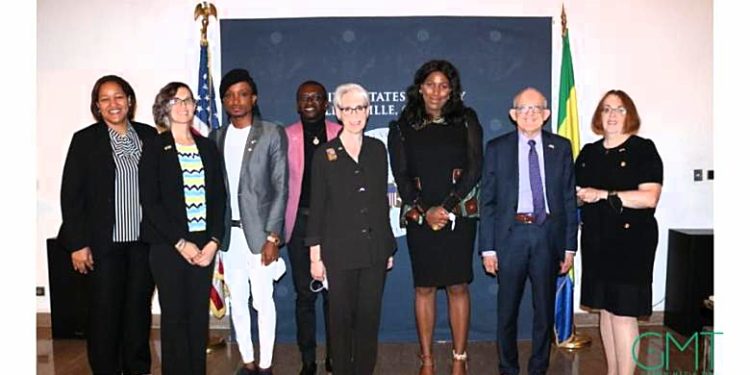
[[[144,144],[156,129],[130,123]],[[112,243],[115,225],[115,162],[107,125],[92,124],[73,134],[65,158],[60,205],[63,223],[58,234],[62,247],[73,252],[86,246],[96,255]]]

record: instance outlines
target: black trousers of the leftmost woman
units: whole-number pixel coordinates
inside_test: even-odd
[[[86,352],[94,374],[151,372],[151,298],[154,280],[148,246],[117,242],[94,251],[87,275]]]

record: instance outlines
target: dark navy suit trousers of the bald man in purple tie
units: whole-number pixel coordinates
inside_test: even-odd
[[[497,342],[501,374],[518,374],[518,307],[526,279],[531,282],[534,308],[531,333],[529,374],[545,374],[549,367],[552,329],[555,319],[555,279],[559,271],[557,256],[547,243],[548,224],[516,223],[498,254],[500,271],[497,282]]]

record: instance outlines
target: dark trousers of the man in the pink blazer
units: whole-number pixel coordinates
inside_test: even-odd
[[[294,291],[297,293],[295,300],[295,318],[297,321],[297,346],[302,356],[302,363],[315,362],[315,347],[317,338],[315,335],[315,302],[318,294],[323,297],[323,317],[326,330],[326,357],[331,353],[331,336],[328,330],[328,291],[320,292],[310,290],[310,248],[304,245],[305,230],[307,228],[307,213],[305,210],[297,212],[297,220],[292,230],[287,249],[289,250],[289,263],[292,266],[292,279]]]

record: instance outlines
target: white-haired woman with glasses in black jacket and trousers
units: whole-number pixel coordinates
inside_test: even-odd
[[[362,86],[336,88],[339,137],[312,162],[310,246],[313,279],[328,280],[331,360],[336,375],[372,374],[386,270],[396,241],[388,217],[388,155],[365,137],[370,101]]]

